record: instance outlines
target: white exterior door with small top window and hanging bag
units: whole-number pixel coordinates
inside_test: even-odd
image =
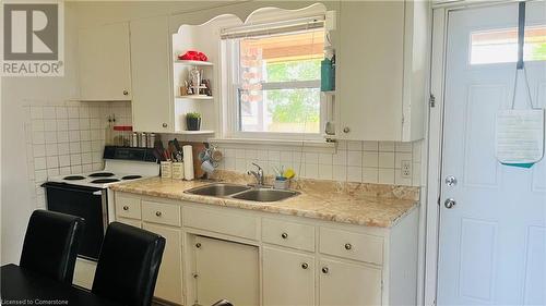
[[[545,2],[527,3],[526,15],[527,34],[542,28],[533,35],[544,39]],[[438,305],[546,305],[546,160],[522,169],[495,157],[496,113],[513,91],[518,3],[448,20]],[[539,52],[531,47],[527,56]],[[534,106],[545,108],[546,62],[525,66]],[[525,108],[524,91],[517,97]]]

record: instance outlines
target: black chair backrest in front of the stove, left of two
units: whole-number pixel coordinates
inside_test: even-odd
[[[80,217],[35,210],[26,229],[20,266],[72,283],[84,221]]]

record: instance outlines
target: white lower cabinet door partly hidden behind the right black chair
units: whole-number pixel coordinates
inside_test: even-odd
[[[165,237],[165,252],[159,267],[154,296],[182,304],[182,237],[178,229],[143,223],[143,229]]]

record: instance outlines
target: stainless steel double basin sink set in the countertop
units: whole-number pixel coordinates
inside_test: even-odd
[[[299,195],[298,192],[294,191],[274,189],[271,187],[252,187],[228,183],[214,183],[188,189],[186,193],[253,201],[278,201]]]

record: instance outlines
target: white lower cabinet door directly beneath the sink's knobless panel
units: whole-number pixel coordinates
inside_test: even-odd
[[[195,304],[260,305],[258,247],[195,236]]]

